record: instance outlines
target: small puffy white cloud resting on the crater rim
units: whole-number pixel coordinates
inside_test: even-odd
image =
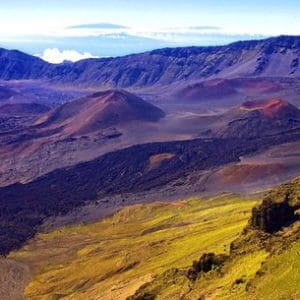
[[[89,52],[80,53],[76,50],[62,50],[58,48],[47,48],[44,50],[43,54],[37,54],[36,56],[42,58],[45,61],[48,61],[53,64],[59,64],[64,61],[78,61],[86,58],[97,58]]]

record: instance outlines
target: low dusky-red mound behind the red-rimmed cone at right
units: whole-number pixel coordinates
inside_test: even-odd
[[[210,110],[227,109],[241,102],[272,97],[288,98],[294,103],[297,81],[298,79],[291,77],[219,77],[181,83],[174,87],[170,98],[176,103],[206,107]]]

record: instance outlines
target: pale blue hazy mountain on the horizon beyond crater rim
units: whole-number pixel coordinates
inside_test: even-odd
[[[218,30],[218,28],[203,28],[202,26],[194,28],[174,28],[173,30],[171,29],[171,32],[157,32],[154,35],[143,35],[135,34],[131,32],[130,29],[128,30],[128,28],[118,28],[117,31],[115,31],[116,28],[97,28],[97,24],[92,24],[92,27],[90,27],[90,24],[82,25],[88,27],[81,27],[81,25],[79,25],[78,28],[68,28],[65,34],[61,36],[34,35],[27,36],[26,39],[2,39],[0,41],[0,47],[19,49],[31,55],[39,54],[41,56],[43,56],[43,53],[47,49],[59,49],[61,52],[71,50],[77,53],[88,52],[94,57],[108,57],[124,56],[165,47],[226,45],[234,41],[245,41],[254,38],[263,39],[267,37],[263,35],[253,36],[249,34],[204,32],[205,30]],[[102,25],[100,25],[100,27],[101,26]],[[120,25],[117,26],[120,27]],[[94,30],[96,32],[100,30],[100,32],[94,34]],[[75,34],[72,34],[72,31]],[[90,32],[92,34],[76,35],[78,31],[85,33]]]

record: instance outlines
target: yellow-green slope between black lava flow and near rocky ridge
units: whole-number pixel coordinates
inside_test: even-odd
[[[229,254],[256,202],[224,195],[135,205],[94,224],[39,234],[10,258],[32,272],[26,299],[126,299],[156,275],[189,267],[203,253]],[[226,266],[221,285],[248,280],[265,257],[260,251],[238,258]],[[189,289],[183,277],[176,282],[168,289],[174,299]],[[218,286],[206,288],[215,292]],[[195,291],[199,296],[196,284]]]

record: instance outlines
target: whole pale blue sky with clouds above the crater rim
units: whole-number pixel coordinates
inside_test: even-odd
[[[0,47],[50,62],[300,35],[298,0],[0,0]]]

